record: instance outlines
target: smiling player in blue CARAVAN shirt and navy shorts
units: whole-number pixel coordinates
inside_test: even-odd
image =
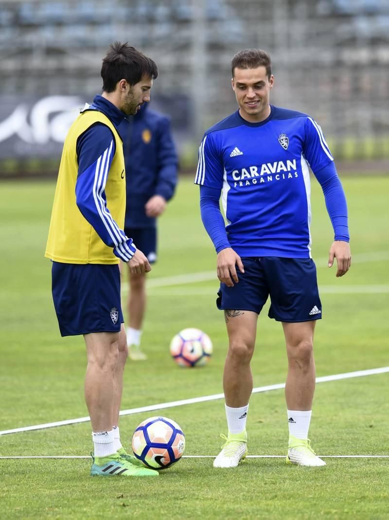
[[[247,454],[250,362],[258,316],[269,295],[269,317],[282,323],[288,357],[286,460],[323,466],[308,440],[313,334],[322,317],[311,257],[309,166],[334,228],[328,266],[336,258],[337,277],[351,264],[346,200],[321,127],[307,114],[270,105],[269,55],[242,50],[231,68],[239,110],[205,133],[195,179],[201,218],[217,253],[217,306],[224,310],[229,338],[223,376],[228,437],[221,435],[226,442],[214,466],[238,466]]]

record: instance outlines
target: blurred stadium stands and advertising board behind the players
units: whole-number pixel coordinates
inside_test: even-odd
[[[387,0],[0,0],[0,178],[57,174],[115,40],[158,63],[152,105],[172,117],[183,171],[236,109],[230,61],[247,47],[270,52],[272,102],[319,121],[338,161],[389,170]]]

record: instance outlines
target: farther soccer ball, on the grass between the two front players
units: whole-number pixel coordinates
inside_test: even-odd
[[[202,367],[212,355],[212,341],[200,329],[184,329],[170,342],[170,353],[180,367]]]

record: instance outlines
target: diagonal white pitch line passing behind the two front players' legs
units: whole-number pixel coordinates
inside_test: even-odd
[[[328,381],[338,381],[340,379],[360,378],[365,375],[383,374],[389,372],[389,367],[372,368],[369,370],[357,370],[356,372],[345,372],[343,374],[324,375],[320,378],[316,378],[316,383],[326,383]],[[275,385],[258,386],[253,388],[253,394],[260,392],[269,392],[271,390],[279,390],[285,388],[285,383],[279,383]],[[151,412],[155,410],[162,410],[166,408],[174,408],[176,406],[192,405],[198,402],[214,401],[216,399],[223,399],[224,394],[213,394],[206,395],[203,397],[193,397],[191,399],[181,399],[178,401],[162,402],[157,405],[142,406],[140,408],[130,408],[128,410],[122,410],[119,415],[133,415],[134,413]],[[89,417],[80,417],[78,419],[68,419],[66,421],[57,421],[45,424],[35,424],[34,426],[25,426],[22,428],[13,428],[12,430],[0,431],[0,435],[7,435],[11,433],[30,432],[33,430],[45,430],[46,428],[52,428],[54,426],[65,426],[67,424],[78,424],[82,422],[88,422]]]

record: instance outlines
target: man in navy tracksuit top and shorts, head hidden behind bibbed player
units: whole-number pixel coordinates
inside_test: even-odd
[[[174,194],[178,159],[170,118],[148,108],[145,103],[135,116],[120,125],[126,163],[127,206],[124,231],[132,237],[149,263],[157,259],[159,217]],[[129,270],[130,292],[127,309],[127,344],[131,359],[143,360],[140,348],[146,308],[146,277]]]

